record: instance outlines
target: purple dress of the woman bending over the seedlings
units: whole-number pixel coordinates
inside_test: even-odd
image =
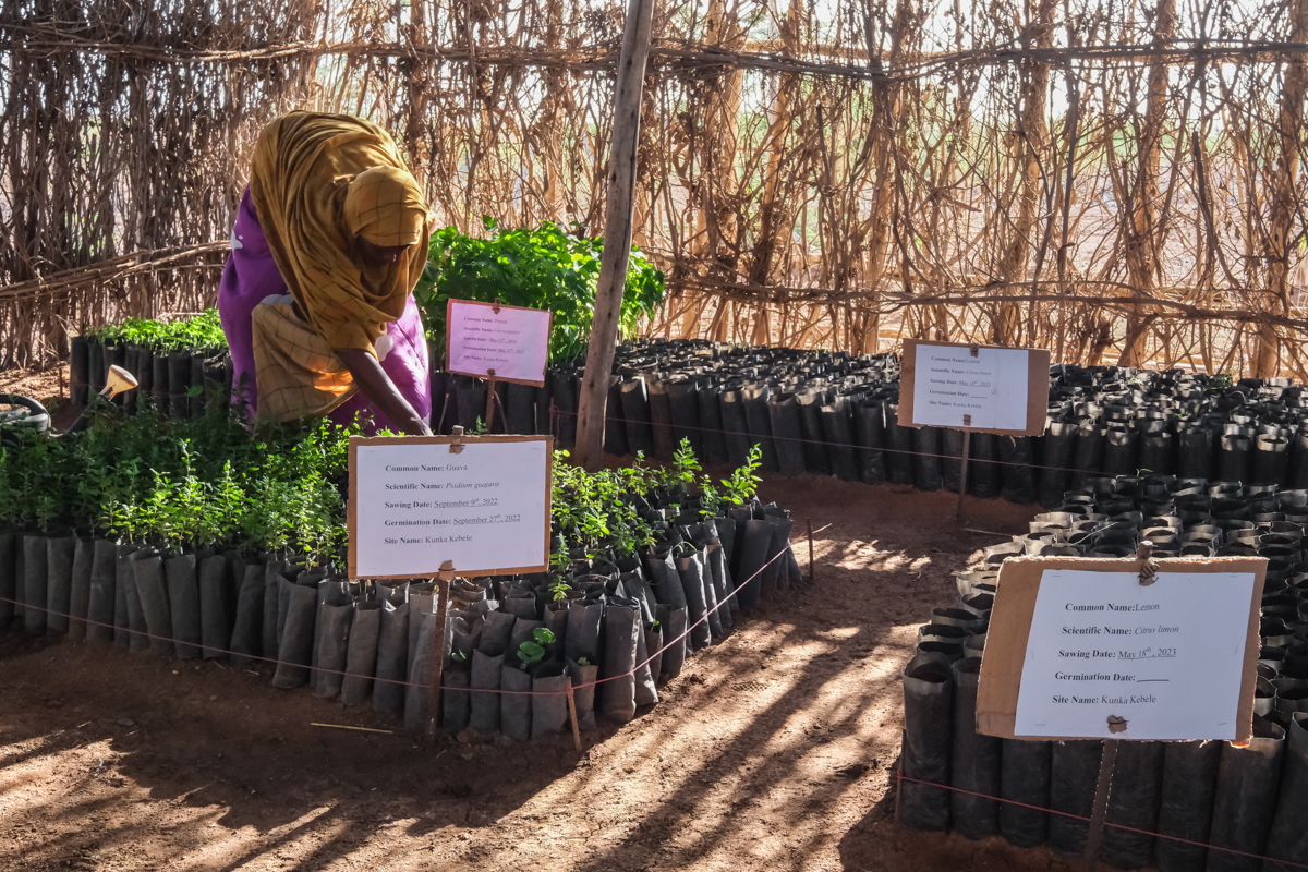
[[[268,241],[259,229],[259,217],[250,201],[250,188],[241,196],[235,226],[232,227],[232,254],[222,268],[222,284],[218,285],[218,315],[222,319],[222,332],[228,336],[232,352],[232,401],[242,399],[250,409],[259,408],[259,390],[254,375],[254,331],[250,315],[254,307],[267,297],[280,297],[289,293],[281,278],[277,263],[268,248]],[[395,388],[400,392],[419,417],[424,421],[432,417],[432,377],[426,356],[426,333],[417,303],[409,294],[404,303],[404,314],[391,322],[374,344],[377,358]],[[373,426],[369,433],[381,428],[394,428],[391,420],[373,401],[356,391],[353,396],[332,409],[328,416],[336,424],[348,424],[358,412],[370,412]],[[250,416],[251,418],[254,416]]]

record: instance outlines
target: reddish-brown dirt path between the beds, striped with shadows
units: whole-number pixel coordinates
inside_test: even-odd
[[[5,390],[0,382],[0,391]],[[816,580],[629,724],[463,745],[225,663],[0,630],[0,869],[1070,869],[893,817],[899,672],[998,541],[952,494],[768,477]],[[969,501],[969,524],[1036,511]]]

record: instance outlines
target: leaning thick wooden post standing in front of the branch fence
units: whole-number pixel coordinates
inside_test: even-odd
[[[604,251],[600,255],[595,319],[590,328],[586,373],[577,414],[577,463],[599,469],[604,454],[604,403],[617,346],[617,319],[632,251],[632,210],[636,190],[636,145],[641,136],[641,97],[645,61],[650,54],[654,0],[629,0],[623,29],[623,54],[613,86],[613,140],[608,154],[604,203]]]

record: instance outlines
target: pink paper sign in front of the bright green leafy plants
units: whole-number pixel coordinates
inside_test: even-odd
[[[539,309],[450,299],[445,332],[450,373],[543,384],[553,315]]]

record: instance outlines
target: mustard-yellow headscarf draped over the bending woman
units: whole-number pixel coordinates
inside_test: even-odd
[[[259,136],[250,196],[273,260],[314,332],[328,348],[373,343],[422,275],[430,233],[426,204],[395,141],[349,115],[290,112]],[[354,237],[409,244],[386,267],[365,263]]]

